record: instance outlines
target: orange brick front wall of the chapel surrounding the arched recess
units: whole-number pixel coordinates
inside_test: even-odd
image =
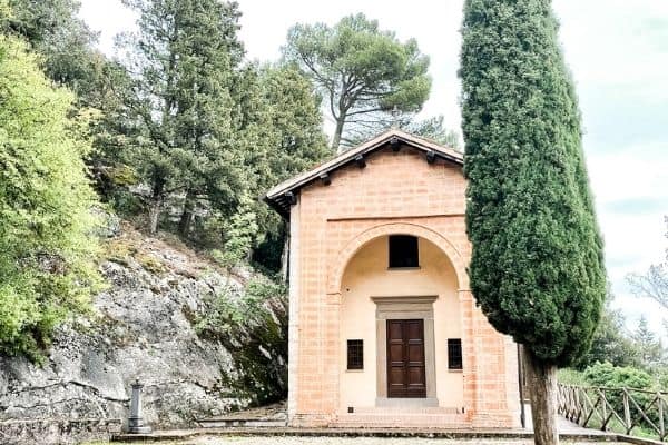
[[[294,426],[335,425],[338,412],[341,280],[370,240],[392,234],[424,238],[450,259],[462,326],[464,415],[443,427],[513,427],[519,423],[517,350],[479,308],[466,276],[465,179],[451,160],[380,147],[365,167],[330,171],[291,207],[288,416]],[[401,423],[401,414],[396,422]],[[444,421],[445,422],[445,421]]]

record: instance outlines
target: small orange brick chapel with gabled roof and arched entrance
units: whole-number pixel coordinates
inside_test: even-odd
[[[463,154],[399,129],[286,180],[288,424],[518,427],[518,347],[475,305]]]

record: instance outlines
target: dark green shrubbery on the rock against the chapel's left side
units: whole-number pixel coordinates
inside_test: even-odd
[[[257,404],[286,394],[286,294],[284,285],[257,277],[240,296],[233,289],[219,295],[196,322],[200,337],[220,342],[232,353],[239,375],[230,376],[229,385]]]

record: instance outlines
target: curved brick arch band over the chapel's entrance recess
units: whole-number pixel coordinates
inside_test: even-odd
[[[357,234],[350,240],[345,247],[336,255],[336,261],[330,266],[327,274],[327,290],[328,294],[337,294],[341,291],[341,281],[343,274],[350,260],[355,254],[372,239],[387,235],[412,235],[424,238],[445,254],[454,268],[458,286],[460,289],[469,289],[469,276],[466,274],[466,263],[458,250],[458,248],[443,235],[438,231],[412,222],[387,222],[369,228]]]

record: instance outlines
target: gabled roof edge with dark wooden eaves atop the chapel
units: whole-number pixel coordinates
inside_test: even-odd
[[[435,157],[459,165],[464,164],[464,155],[451,147],[443,147],[407,132],[391,129],[302,175],[281,182],[267,191],[265,200],[282,216],[287,217],[289,215],[291,200],[294,199],[293,197],[297,195],[302,187],[315,180],[326,178],[334,170],[357,162],[360,159],[385,147],[387,144],[396,145],[397,142],[424,151],[432,159]]]

